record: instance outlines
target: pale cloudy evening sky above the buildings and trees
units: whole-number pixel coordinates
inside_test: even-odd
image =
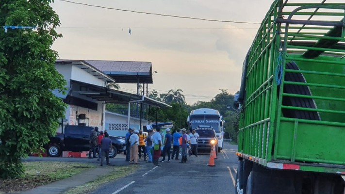
[[[71,0],[166,15],[261,22],[273,0]],[[123,12],[55,0],[60,59],[152,63],[158,93],[181,89],[188,104],[220,89],[239,90],[242,64],[259,24],[236,24]],[[129,33],[131,28],[131,34]],[[119,84],[136,93],[136,84]]]

